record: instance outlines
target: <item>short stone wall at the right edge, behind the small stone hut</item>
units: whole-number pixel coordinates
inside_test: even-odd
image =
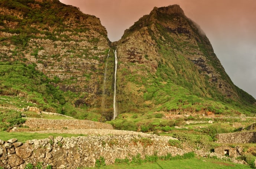
[[[255,143],[256,132],[233,132],[216,134],[218,143]]]

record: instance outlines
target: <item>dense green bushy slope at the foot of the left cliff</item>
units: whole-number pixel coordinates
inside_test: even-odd
[[[18,97],[17,99],[35,103],[43,111],[61,113],[61,107],[65,104],[63,92],[49,84],[47,76],[35,68],[35,64],[0,62],[0,95]],[[0,104],[9,106],[12,101],[0,100]],[[20,105],[16,106],[22,108]]]

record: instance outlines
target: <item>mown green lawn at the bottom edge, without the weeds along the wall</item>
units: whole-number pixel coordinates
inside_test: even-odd
[[[170,161],[157,160],[141,165],[108,165],[102,169],[249,169],[250,166],[208,158],[178,159]]]

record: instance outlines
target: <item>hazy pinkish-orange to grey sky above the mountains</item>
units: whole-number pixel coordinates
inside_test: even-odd
[[[200,25],[233,83],[256,98],[256,0],[60,0],[100,18],[110,41],[154,7],[178,4]]]

